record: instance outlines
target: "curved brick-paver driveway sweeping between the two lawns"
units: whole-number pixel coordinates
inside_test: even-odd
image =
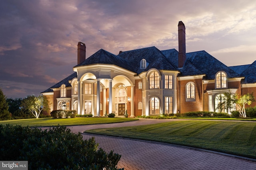
[[[101,125],[70,126],[73,132],[106,127],[124,127],[180,121],[177,119],[140,119],[139,121]],[[82,134],[84,139],[95,137],[99,147],[121,154],[118,168],[125,170],[256,170],[256,162],[250,159],[211,152],[206,150],[178,147],[174,145],[147,142],[101,135]]]

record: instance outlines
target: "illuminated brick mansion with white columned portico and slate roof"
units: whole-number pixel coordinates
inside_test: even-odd
[[[86,57],[78,43],[74,73],[42,94],[51,110],[76,110],[78,114],[123,117],[218,111],[224,93],[256,94],[256,62],[226,66],[206,51],[186,53],[185,25],[178,23],[178,51],[156,47],[120,51],[100,49]],[[256,102],[252,105],[256,106]]]

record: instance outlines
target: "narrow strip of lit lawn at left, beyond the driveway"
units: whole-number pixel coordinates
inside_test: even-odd
[[[133,118],[118,118],[118,117],[76,117],[76,118],[38,118],[38,119],[17,119],[0,121],[0,124],[21,125],[30,127],[42,126],[57,126],[57,125],[90,125],[99,123],[120,123],[125,121],[134,121],[138,119]]]

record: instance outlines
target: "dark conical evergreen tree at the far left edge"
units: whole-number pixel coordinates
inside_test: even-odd
[[[8,120],[10,119],[10,112],[8,111],[9,106],[6,102],[6,97],[0,88],[0,120]]]

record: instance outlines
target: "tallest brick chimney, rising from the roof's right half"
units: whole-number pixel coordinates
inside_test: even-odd
[[[185,25],[182,21],[178,24],[178,39],[179,39],[179,63],[178,67],[182,68],[186,61],[186,39],[185,39]]]

